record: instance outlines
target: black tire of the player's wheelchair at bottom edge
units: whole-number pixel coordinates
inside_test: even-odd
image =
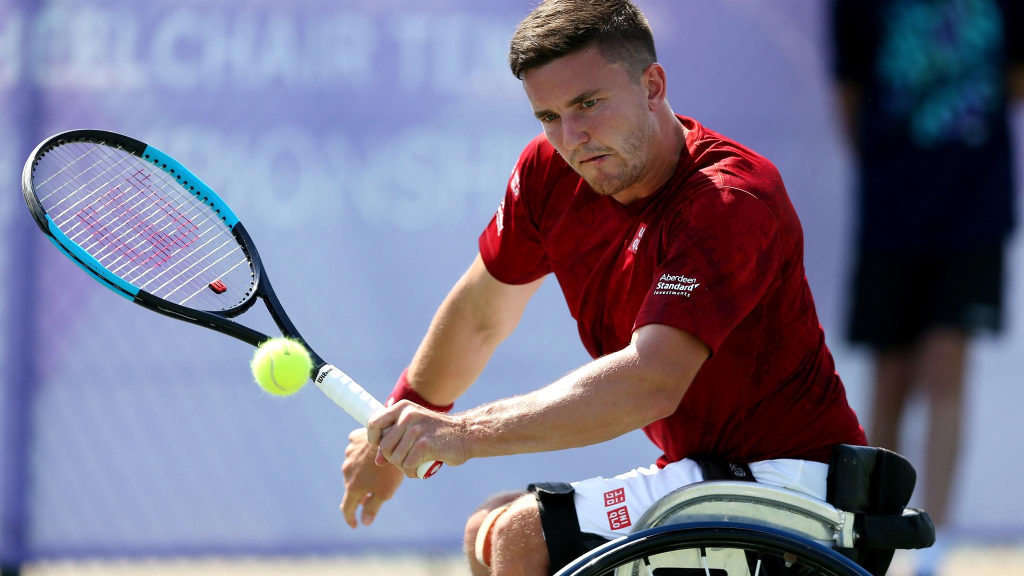
[[[751,553],[766,553],[781,559],[783,553],[791,553],[800,559],[801,574],[871,576],[850,559],[813,540],[734,522],[675,524],[642,530],[591,550],[556,576],[603,576],[618,566],[657,553],[701,547],[742,549],[749,552],[749,558]]]

